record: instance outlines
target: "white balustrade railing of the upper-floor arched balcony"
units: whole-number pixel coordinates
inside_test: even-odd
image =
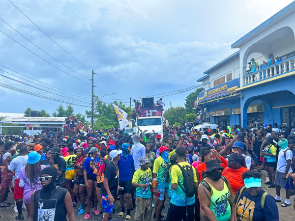
[[[295,69],[295,56],[287,58],[279,63],[267,66],[259,71],[252,72],[243,77],[243,86],[264,81],[273,76],[277,76]]]

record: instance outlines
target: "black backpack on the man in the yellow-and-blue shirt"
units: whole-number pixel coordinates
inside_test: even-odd
[[[183,186],[181,186],[179,182],[177,183],[179,187],[181,188],[181,190],[185,193],[185,204],[186,204],[187,197],[195,196],[194,171],[191,165],[180,166],[179,164],[177,164],[177,166],[180,168],[182,176],[183,176]]]

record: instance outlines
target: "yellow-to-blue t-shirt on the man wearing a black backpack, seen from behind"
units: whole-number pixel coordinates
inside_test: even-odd
[[[191,166],[187,162],[181,162],[181,163],[178,163],[178,165],[181,167],[186,166],[186,165]],[[183,187],[183,175],[182,175],[182,172],[181,172],[179,166],[175,165],[175,166],[172,166],[172,168],[171,168],[171,184],[177,184],[177,189],[174,191],[170,202],[176,206],[185,206],[185,193],[182,191],[181,187],[179,187],[179,184]],[[185,167],[184,167],[184,169],[185,169]],[[197,176],[196,176],[196,170],[194,169],[194,167],[192,167],[192,170],[194,173],[194,175],[193,175],[194,182],[196,183],[196,182],[198,182]],[[186,202],[187,202],[186,205],[188,205],[188,206],[194,204],[195,203],[195,196],[187,197]]]

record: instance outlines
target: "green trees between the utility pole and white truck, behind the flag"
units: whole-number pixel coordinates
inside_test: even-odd
[[[126,107],[122,104],[122,102],[114,102],[115,105],[120,107],[123,111],[128,114],[128,117],[132,113],[132,108]],[[91,111],[86,111],[86,115],[88,118],[91,118]],[[112,104],[106,105],[102,103],[102,101],[97,101],[94,107],[94,130],[100,129],[108,129],[119,127],[118,118],[115,112],[115,108]]]

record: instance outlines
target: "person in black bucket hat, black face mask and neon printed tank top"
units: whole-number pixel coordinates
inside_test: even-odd
[[[216,159],[207,161],[206,166],[206,177],[198,188],[202,216],[210,221],[228,221],[235,194],[228,179],[222,176],[224,168]]]

